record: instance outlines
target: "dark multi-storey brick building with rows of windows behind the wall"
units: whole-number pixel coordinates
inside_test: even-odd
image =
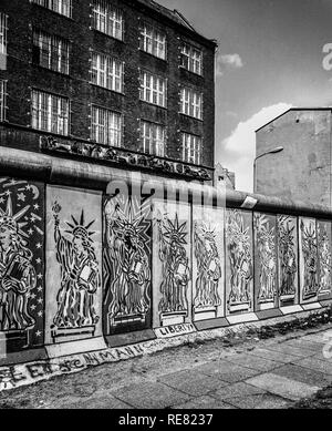
[[[0,145],[97,144],[208,179],[215,51],[151,0],[1,0]]]

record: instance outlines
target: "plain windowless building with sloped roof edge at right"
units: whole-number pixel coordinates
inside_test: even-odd
[[[332,107],[290,109],[256,132],[256,193],[331,207],[331,114]]]

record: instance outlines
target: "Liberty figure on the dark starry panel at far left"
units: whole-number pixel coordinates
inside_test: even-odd
[[[7,208],[0,208],[0,331],[25,330],[34,326],[28,310],[30,291],[37,286],[32,252],[19,223],[30,206],[13,214],[11,194]]]

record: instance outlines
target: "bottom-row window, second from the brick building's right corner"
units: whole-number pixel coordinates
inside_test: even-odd
[[[165,155],[166,130],[164,126],[141,121],[141,142],[144,153]]]

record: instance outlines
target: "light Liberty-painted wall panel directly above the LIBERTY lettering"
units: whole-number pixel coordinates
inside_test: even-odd
[[[190,219],[188,204],[154,203],[154,327],[191,322]]]

